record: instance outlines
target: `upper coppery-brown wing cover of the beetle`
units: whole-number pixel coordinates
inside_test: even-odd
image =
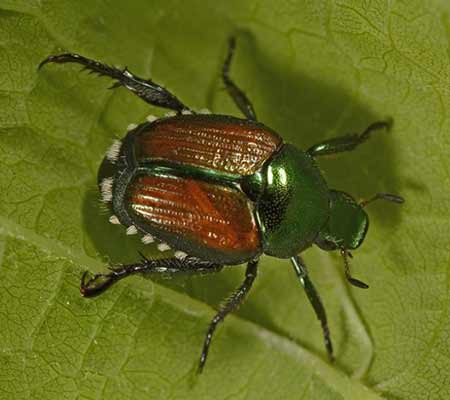
[[[222,115],[181,115],[144,125],[135,157],[251,175],[281,146],[266,126]]]

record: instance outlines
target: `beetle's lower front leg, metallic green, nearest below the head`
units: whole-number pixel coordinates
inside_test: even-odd
[[[330,329],[328,328],[327,314],[325,312],[325,307],[320,300],[319,293],[317,293],[316,288],[309,279],[308,270],[303,260],[299,256],[291,258],[292,265],[294,266],[295,273],[300,279],[300,283],[305,289],[306,295],[308,296],[309,302],[314,308],[317,319],[322,325],[323,338],[325,341],[325,347],[327,349],[328,358],[330,361],[334,361],[333,356],[333,345],[331,343]]]

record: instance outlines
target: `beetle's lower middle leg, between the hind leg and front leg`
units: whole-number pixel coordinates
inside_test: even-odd
[[[198,372],[201,373],[208,357],[209,345],[211,344],[212,335],[217,328],[217,324],[222,322],[224,318],[243,302],[246,294],[252,287],[253,281],[256,278],[258,269],[258,260],[250,261],[247,264],[247,270],[245,271],[245,280],[239,286],[232,295],[222,304],[219,312],[214,316],[209,324],[208,331],[206,332],[205,341],[203,343],[202,355],[200,356],[200,363],[198,366]]]

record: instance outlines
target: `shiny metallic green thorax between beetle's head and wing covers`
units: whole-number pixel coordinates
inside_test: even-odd
[[[329,217],[329,190],[311,156],[285,144],[266,165],[256,213],[266,254],[289,258],[310,246]]]

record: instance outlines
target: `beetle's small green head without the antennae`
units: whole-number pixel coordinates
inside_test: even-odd
[[[369,218],[349,194],[330,190],[330,219],[321,229],[316,244],[325,250],[356,249],[369,227]]]

